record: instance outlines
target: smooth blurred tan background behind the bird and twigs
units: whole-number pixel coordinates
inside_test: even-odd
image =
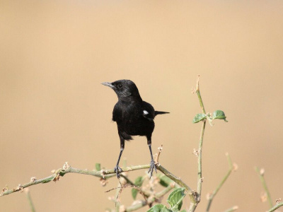
[[[113,168],[117,97],[100,83],[126,78],[156,110],[171,112],[156,117],[153,149],[163,143],[160,163],[196,189],[201,124],[192,118],[201,110],[191,88],[200,74],[207,112],[224,110],[229,123],[207,125],[197,211],[228,170],[226,152],[238,171],[211,211],[266,211],[255,165],[265,167],[273,201],[283,198],[282,11],[282,1],[0,1],[1,188],[47,177],[66,161]],[[149,163],[146,139],[127,142],[125,157]],[[115,194],[105,191],[116,186],[68,174],[30,192],[37,211],[105,211]],[[132,203],[130,189],[121,200]],[[23,193],[2,196],[0,208],[30,211]]]

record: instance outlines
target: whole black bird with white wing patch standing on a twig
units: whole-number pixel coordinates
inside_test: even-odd
[[[139,90],[134,82],[120,80],[112,83],[102,83],[104,86],[112,88],[118,97],[113,113],[112,120],[117,122],[118,134],[120,137],[120,155],[117,165],[114,168],[116,175],[120,178],[119,161],[125,148],[125,140],[132,140],[132,136],[146,136],[147,145],[151,153],[151,166],[149,167],[150,177],[156,171],[154,158],[151,151],[151,134],[154,131],[154,117],[157,114],[168,112],[155,111],[154,107],[148,102],[144,102],[139,95]]]

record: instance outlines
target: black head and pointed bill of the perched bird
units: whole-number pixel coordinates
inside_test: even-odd
[[[112,88],[117,94],[118,98],[125,99],[130,96],[140,98],[139,90],[137,89],[137,86],[134,84],[133,81],[120,80],[112,83],[105,82],[101,84]]]

